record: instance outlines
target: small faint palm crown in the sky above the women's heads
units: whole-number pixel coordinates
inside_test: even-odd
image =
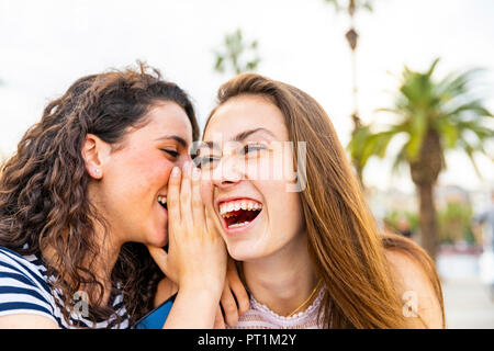
[[[227,34],[223,45],[224,47],[222,47],[220,52],[215,52],[215,71],[223,73],[228,67],[235,75],[239,75],[242,72],[254,71],[257,69],[260,63],[260,58],[257,53],[258,42],[252,41],[250,43],[245,43],[240,29],[237,29],[232,34]],[[249,58],[247,59],[246,56]]]

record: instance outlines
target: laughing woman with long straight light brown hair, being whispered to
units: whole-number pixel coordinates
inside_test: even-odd
[[[321,105],[252,73],[217,99],[195,161],[250,293],[237,327],[444,327],[434,263],[413,241],[378,231]],[[273,177],[280,167],[288,172]]]

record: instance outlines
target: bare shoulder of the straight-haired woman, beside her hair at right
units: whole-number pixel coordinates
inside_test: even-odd
[[[429,328],[444,327],[442,292],[429,262],[400,249],[388,249],[396,290],[404,303],[404,314],[420,317]]]

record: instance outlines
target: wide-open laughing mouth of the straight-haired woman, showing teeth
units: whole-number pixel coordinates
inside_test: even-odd
[[[262,204],[250,199],[238,199],[220,204],[220,214],[227,229],[248,226],[262,211]]]

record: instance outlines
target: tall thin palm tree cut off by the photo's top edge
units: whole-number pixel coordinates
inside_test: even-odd
[[[362,123],[360,120],[357,95],[358,95],[358,86],[357,86],[357,59],[356,59],[356,48],[359,34],[355,29],[355,13],[357,11],[367,10],[372,11],[372,0],[324,0],[327,3],[334,5],[336,12],[347,11],[350,16],[350,29],[345,34],[345,37],[348,41],[348,45],[351,50],[351,76],[352,76],[352,97],[353,97],[353,111],[351,113],[351,121],[353,122],[353,129],[351,135],[355,136],[356,133],[362,127]],[[359,155],[351,155],[351,162],[357,171],[357,176],[360,180],[360,184],[363,186],[362,180],[362,168],[360,167]]]

